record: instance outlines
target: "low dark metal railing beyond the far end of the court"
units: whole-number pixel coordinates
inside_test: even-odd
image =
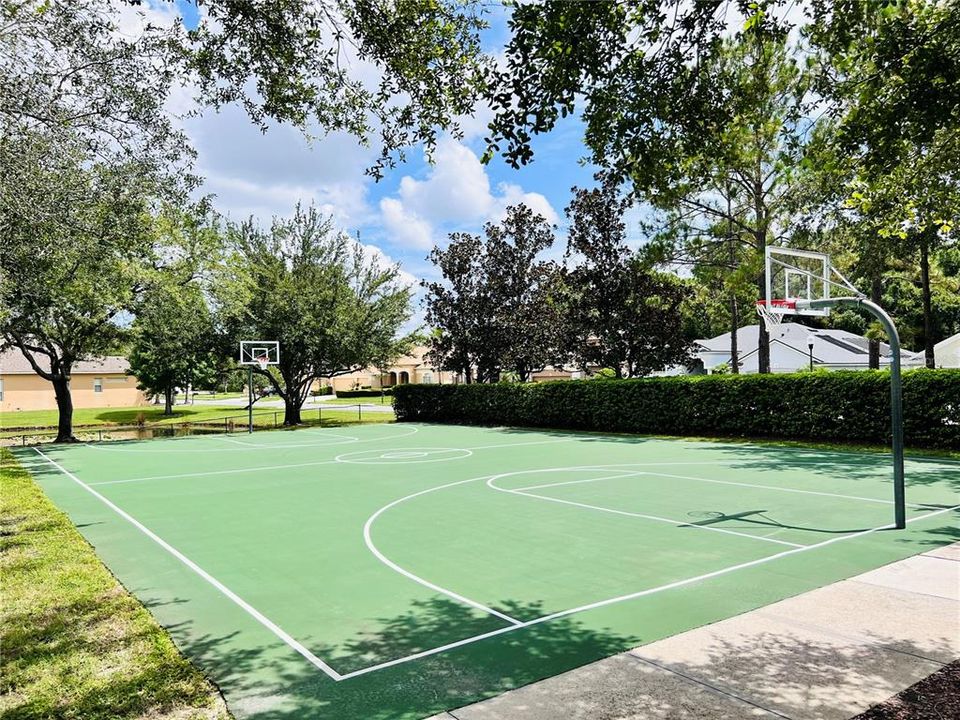
[[[328,405],[316,408],[304,408],[300,411],[300,420],[303,425],[317,426],[324,424],[324,416],[331,423],[350,424],[363,422],[363,409],[367,408],[368,417],[371,412],[384,415],[384,406],[373,403],[357,403],[349,405]],[[373,410],[375,409],[376,410]],[[349,415],[356,409],[357,417],[354,420]],[[391,408],[392,409],[392,408]],[[316,410],[316,414],[314,414]],[[336,415],[334,413],[340,413]],[[348,415],[344,415],[344,414]],[[253,429],[275,430],[283,426],[283,410],[255,412],[253,414]],[[85,442],[107,442],[117,440],[149,440],[158,437],[180,437],[185,435],[219,435],[237,432],[248,432],[248,415],[225,415],[222,417],[202,418],[199,420],[161,420],[152,423],[134,423],[127,425],[81,425],[74,427],[74,437]],[[19,432],[18,432],[19,431]],[[53,426],[37,428],[10,428],[0,430],[0,446],[26,447],[50,443],[57,437],[57,428]]]

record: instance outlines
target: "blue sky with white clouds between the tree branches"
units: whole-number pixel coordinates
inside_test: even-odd
[[[188,27],[196,23],[192,3],[177,0],[176,7]],[[498,9],[490,19],[483,40],[485,50],[496,53],[506,39],[506,16]],[[577,118],[537,138],[534,162],[514,170],[500,159],[488,166],[479,163],[485,134],[480,113],[465,121],[462,141],[441,140],[434,164],[425,161],[421,148],[413,148],[407,162],[379,183],[364,174],[377,149],[364,148],[349,136],[327,136],[311,144],[291,127],[261,134],[238,108],[207,112],[186,121],[185,129],[206,178],[204,192],[215,195],[221,213],[269,222],[273,215],[290,214],[298,201],[313,202],[351,235],[359,232],[364,244],[399,261],[410,281],[433,275],[426,255],[435,244],[444,245],[449,232],[479,232],[484,222],[498,219],[516,202],[557,222],[562,236],[570,188],[593,185],[593,170],[579,163],[585,148]],[[562,252],[562,241],[557,251]]]

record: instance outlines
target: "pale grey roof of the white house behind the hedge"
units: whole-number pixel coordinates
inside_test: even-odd
[[[757,341],[760,332],[759,325],[747,325],[737,330],[737,343],[741,348],[741,359],[757,352]],[[798,323],[785,322],[770,333],[771,343],[780,343],[792,350],[802,353],[809,352],[808,344],[813,341],[813,359],[820,365],[867,365],[870,341],[862,335],[847,332],[846,330],[818,330]],[[697,340],[707,353],[718,353],[729,356],[730,333],[718,335],[715,338]],[[889,361],[890,346],[880,343],[881,359]],[[900,354],[904,362],[917,360],[917,353],[903,350]]]

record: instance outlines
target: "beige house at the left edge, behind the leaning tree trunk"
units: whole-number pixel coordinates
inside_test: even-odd
[[[43,356],[36,356],[42,362]],[[44,363],[41,367],[49,367]],[[137,390],[137,379],[127,375],[125,357],[109,355],[77,362],[73,366],[70,390],[75,408],[135,407],[146,399]],[[53,385],[37,375],[17,349],[0,353],[0,412],[55,410]]]

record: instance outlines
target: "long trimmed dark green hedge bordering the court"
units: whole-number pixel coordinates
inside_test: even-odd
[[[399,420],[655,435],[890,439],[887,371],[400,385]],[[960,370],[903,375],[906,444],[960,450]]]

